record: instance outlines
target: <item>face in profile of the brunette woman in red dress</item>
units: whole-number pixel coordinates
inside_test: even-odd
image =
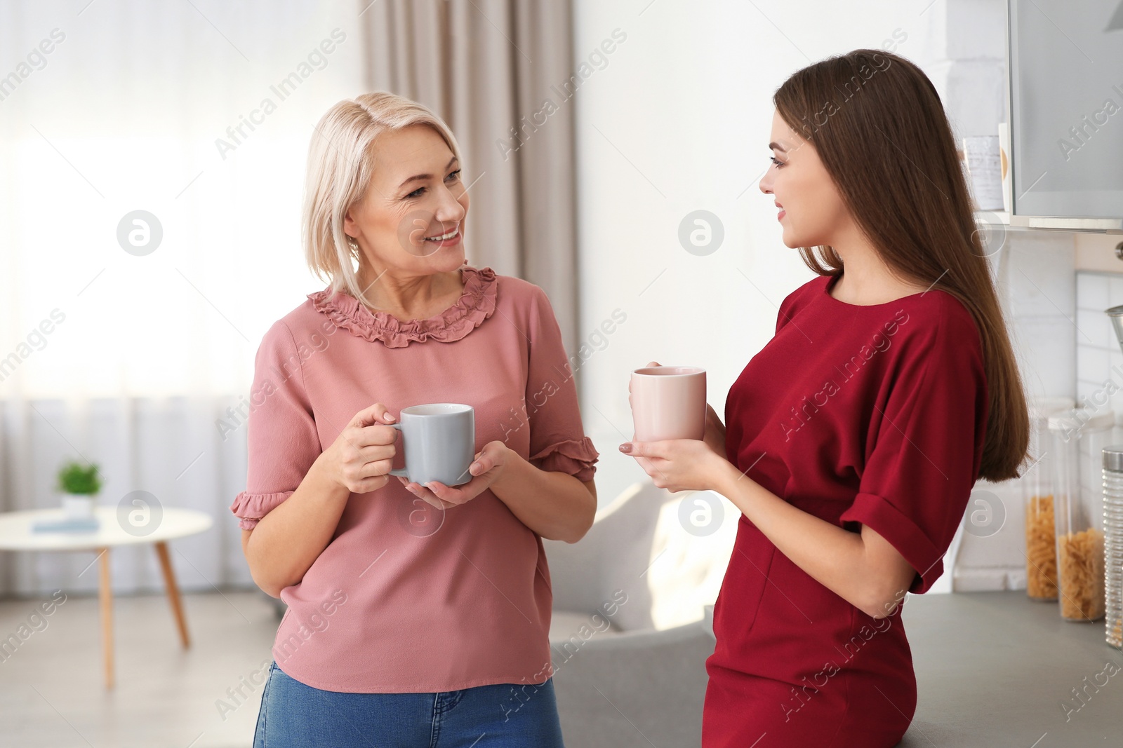
[[[784,243],[793,249],[836,244],[852,218],[815,147],[788,127],[779,112],[773,114],[769,140],[773,165],[760,179],[760,192],[777,203]]]

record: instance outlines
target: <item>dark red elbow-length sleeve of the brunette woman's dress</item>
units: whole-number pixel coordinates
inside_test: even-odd
[[[932,334],[895,341],[902,350],[870,414],[859,492],[840,517],[888,541],[916,570],[909,591],[917,594],[943,573],[982,462],[986,376],[977,327],[961,312],[941,315]],[[924,322],[913,316],[919,333]]]

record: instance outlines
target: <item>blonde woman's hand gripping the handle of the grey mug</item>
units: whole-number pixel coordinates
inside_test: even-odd
[[[377,490],[390,480],[394,464],[394,416],[382,403],[355,414],[320,459],[331,480],[351,493]]]

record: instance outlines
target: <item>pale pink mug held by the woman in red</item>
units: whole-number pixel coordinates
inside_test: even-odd
[[[631,375],[636,441],[705,436],[705,369],[645,367]]]

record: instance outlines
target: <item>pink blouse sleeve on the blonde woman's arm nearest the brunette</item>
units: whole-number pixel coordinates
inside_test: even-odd
[[[585,436],[577,406],[573,367],[562,342],[562,329],[549,298],[532,287],[529,311],[530,361],[527,375],[529,462],[549,472],[593,480],[600,453]]]

